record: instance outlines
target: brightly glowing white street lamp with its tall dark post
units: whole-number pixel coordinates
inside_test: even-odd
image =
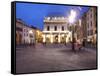
[[[70,15],[69,15],[69,23],[72,26],[72,50],[73,51],[75,50],[75,47],[74,47],[74,42],[75,42],[75,38],[74,38],[74,22],[75,22],[76,16],[77,16],[76,11],[72,9],[70,11]]]

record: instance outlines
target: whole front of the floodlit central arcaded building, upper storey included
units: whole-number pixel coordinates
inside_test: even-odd
[[[43,29],[43,42],[68,43],[71,40],[71,32],[68,30],[66,17],[45,17]]]

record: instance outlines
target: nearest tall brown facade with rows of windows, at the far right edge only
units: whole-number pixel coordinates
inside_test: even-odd
[[[90,7],[86,14],[87,41],[96,44],[96,7]]]

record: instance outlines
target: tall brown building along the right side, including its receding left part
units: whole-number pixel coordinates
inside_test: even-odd
[[[84,13],[84,15],[81,18],[83,39],[86,42],[92,42],[93,44],[96,44],[97,41],[96,13],[97,13],[96,7],[90,7],[89,10],[86,13]]]

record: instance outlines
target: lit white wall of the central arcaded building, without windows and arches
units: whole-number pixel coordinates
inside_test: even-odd
[[[57,20],[57,18],[55,19],[55,20]],[[59,18],[59,20],[60,20],[60,18]],[[64,18],[63,18],[63,20],[65,20]],[[44,20],[45,21],[45,20]],[[48,22],[49,20],[47,20],[47,22]],[[49,31],[47,30],[47,27],[49,26]],[[57,27],[57,30],[55,31],[55,26]],[[71,32],[69,32],[69,30],[68,30],[68,27],[69,25],[65,22],[64,24],[62,23],[46,23],[45,25],[44,25],[44,30],[43,30],[43,42],[45,42],[46,41],[46,37],[49,37],[50,38],[50,41],[51,41],[51,43],[53,43],[53,39],[54,39],[54,37],[56,36],[56,35],[58,35],[58,42],[60,43],[61,42],[61,37],[62,37],[62,34],[63,35],[66,35],[67,37],[66,37],[66,43],[67,42],[69,42],[69,38],[71,39]],[[62,27],[64,27],[64,30],[62,30]],[[68,33],[68,34],[67,34]]]

